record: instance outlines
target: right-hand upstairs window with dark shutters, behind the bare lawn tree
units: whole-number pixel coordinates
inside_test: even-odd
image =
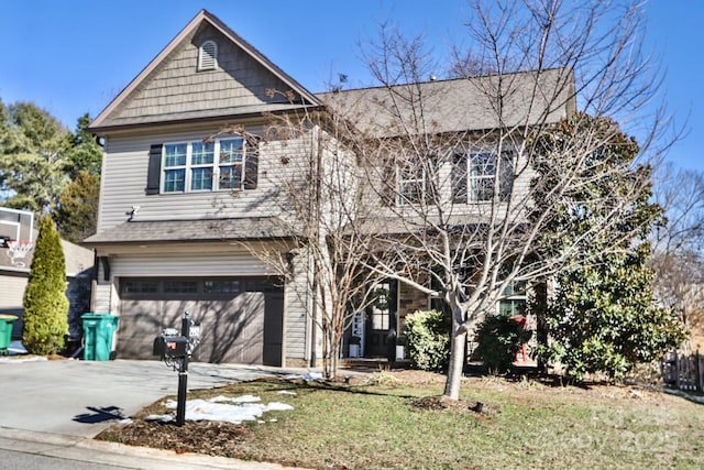
[[[452,168],[452,195],[457,204],[492,201],[498,184],[502,203],[508,200],[514,182],[514,162],[510,152],[499,157],[494,152],[455,154]]]

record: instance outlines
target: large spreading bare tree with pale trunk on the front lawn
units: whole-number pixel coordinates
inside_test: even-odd
[[[568,194],[588,194],[608,171],[630,171],[585,172],[620,132],[601,118],[637,127],[641,154],[661,124],[654,116],[646,128],[637,113],[659,81],[641,54],[636,2],[476,1],[472,11],[471,57],[493,74],[425,83],[435,64],[420,39],[383,28],[366,52],[381,86],[326,97],[331,113],[354,123],[340,140],[366,171],[366,198],[381,207],[350,220],[355,233],[374,236],[361,238],[373,255],[365,265],[452,310],[444,394],[455,400],[473,325],[513,288],[574,262],[590,237],[608,236],[650,184],[634,172],[619,197],[594,194],[604,217],[579,240],[546,244],[543,229],[559,214],[586,216],[580,201],[565,209]],[[561,125],[572,132],[558,140]],[[536,165],[549,165],[551,177],[535,181]],[[613,245],[623,250],[640,230],[614,230]]]

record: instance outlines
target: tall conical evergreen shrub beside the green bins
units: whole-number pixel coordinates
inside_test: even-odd
[[[26,350],[35,354],[58,353],[68,334],[68,298],[64,251],[51,216],[40,228],[22,304],[22,343]]]

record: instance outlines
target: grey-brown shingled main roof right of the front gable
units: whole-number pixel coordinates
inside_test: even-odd
[[[413,132],[407,127],[414,122],[424,127],[418,132],[430,133],[550,123],[575,110],[573,74],[565,68],[341,90],[318,97],[376,136]],[[421,114],[422,119],[415,119]]]

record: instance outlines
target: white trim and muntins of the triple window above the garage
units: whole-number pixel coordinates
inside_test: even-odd
[[[239,140],[242,142],[241,154],[242,160],[239,162],[220,162],[220,144],[226,141]],[[180,141],[180,142],[166,142],[162,145],[162,165],[161,165],[161,175],[160,175],[160,194],[187,194],[187,193],[216,193],[216,192],[228,192],[228,190],[242,190],[244,189],[245,176],[246,176],[246,140],[241,135],[232,135],[228,138],[222,138],[213,141],[213,156],[212,163],[193,163],[193,147],[195,143],[199,143],[201,141]],[[166,165],[166,149],[169,145],[186,145],[186,164],[185,165]],[[234,188],[221,188],[220,187],[220,171],[224,167],[235,167],[240,166],[240,181],[239,186]],[[193,189],[193,171],[196,168],[211,168],[211,185],[210,188],[206,189]],[[169,171],[178,171],[184,170],[184,190],[165,190],[166,183],[166,174]]]

